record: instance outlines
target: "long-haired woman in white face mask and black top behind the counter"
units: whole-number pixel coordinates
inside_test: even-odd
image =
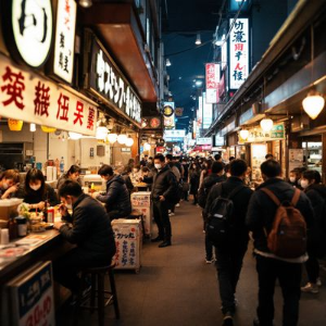
[[[40,170],[32,168],[27,172],[25,184],[18,189],[17,198],[23,198],[29,209],[42,211],[48,205],[59,204],[54,189],[46,184],[46,178]]]

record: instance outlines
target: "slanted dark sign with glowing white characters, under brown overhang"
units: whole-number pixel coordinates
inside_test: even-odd
[[[141,102],[126,77],[100,42],[92,38],[89,88],[111,108],[138,126],[141,123]]]

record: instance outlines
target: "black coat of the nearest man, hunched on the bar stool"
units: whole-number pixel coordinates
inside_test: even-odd
[[[111,263],[115,241],[109,215],[99,202],[88,195],[80,195],[73,205],[73,214],[65,220],[73,226],[63,225],[60,228],[64,239],[93,255],[95,260]]]

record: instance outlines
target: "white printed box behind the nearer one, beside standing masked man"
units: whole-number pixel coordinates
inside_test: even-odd
[[[131,193],[131,205],[133,209],[141,211],[143,213],[143,227],[145,234],[147,236],[151,235],[151,192],[150,191],[139,191]]]

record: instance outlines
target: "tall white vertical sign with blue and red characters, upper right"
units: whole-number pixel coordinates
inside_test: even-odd
[[[229,20],[231,26],[234,18]],[[238,89],[249,75],[249,20],[237,18],[229,35],[229,88]]]

